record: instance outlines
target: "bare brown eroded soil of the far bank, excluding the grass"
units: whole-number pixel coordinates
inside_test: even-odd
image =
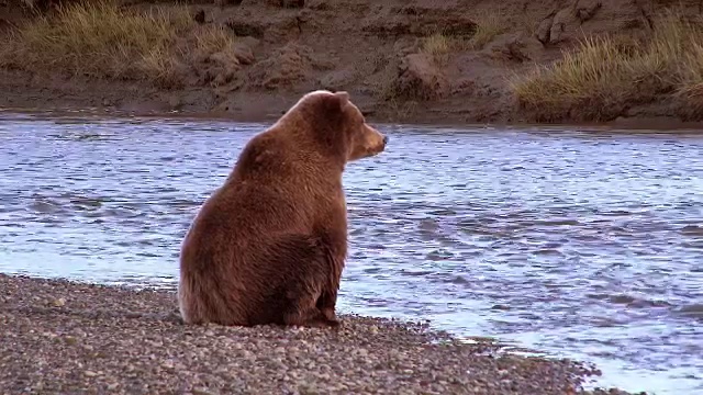
[[[250,58],[226,83],[192,78],[178,89],[143,81],[40,77],[0,70],[0,108],[94,108],[126,112],[182,111],[238,121],[278,117],[312,89],[347,90],[368,119],[405,123],[528,123],[507,79],[548,64],[582,34],[637,35],[672,1],[644,0],[306,0],[190,1],[203,23],[228,26]],[[0,35],[30,20],[19,0],[0,0]],[[171,7],[132,1],[129,7]],[[701,13],[703,1],[680,2]],[[301,5],[302,4],[302,5]],[[202,11],[202,12],[200,12]],[[468,41],[477,22],[500,31],[480,47],[455,48],[440,59],[423,53],[433,32]],[[216,81],[216,76],[214,77]],[[625,126],[681,126],[666,101],[633,105]],[[643,121],[638,121],[643,120]],[[677,125],[678,124],[678,125]]]

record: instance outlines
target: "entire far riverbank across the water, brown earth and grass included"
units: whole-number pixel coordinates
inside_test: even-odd
[[[266,122],[324,88],[373,122],[703,121],[698,1],[114,2],[0,1],[0,108]]]

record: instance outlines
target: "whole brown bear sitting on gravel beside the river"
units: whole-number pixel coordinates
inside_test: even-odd
[[[347,257],[342,173],[388,138],[347,92],[303,95],[243,148],[180,252],[187,324],[335,327]]]

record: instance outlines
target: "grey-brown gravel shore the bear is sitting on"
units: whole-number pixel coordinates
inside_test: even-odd
[[[627,394],[598,371],[341,316],[338,331],[186,326],[176,294],[0,274],[0,394]]]

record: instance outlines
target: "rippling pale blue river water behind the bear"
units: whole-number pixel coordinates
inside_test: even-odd
[[[175,287],[266,125],[0,113],[0,272]],[[431,319],[703,394],[703,136],[381,126],[348,166],[341,312]]]

